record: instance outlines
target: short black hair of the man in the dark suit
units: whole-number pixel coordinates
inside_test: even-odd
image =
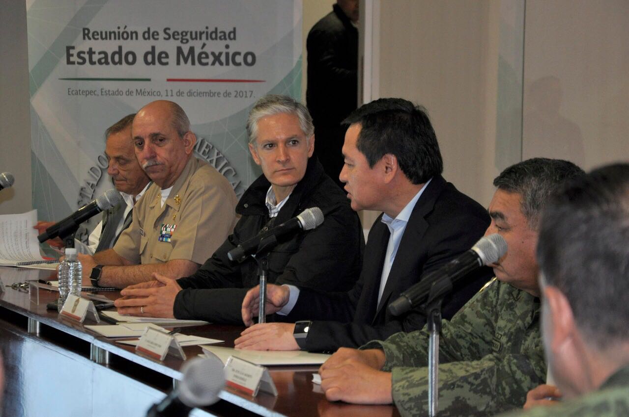
[[[389,153],[413,184],[443,172],[437,136],[421,106],[404,99],[378,99],[360,106],[343,124],[360,124],[356,147],[370,168]]]

